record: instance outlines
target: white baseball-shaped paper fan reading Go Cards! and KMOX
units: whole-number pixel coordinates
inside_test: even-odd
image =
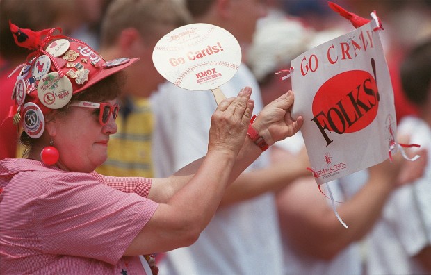
[[[211,90],[220,103],[220,85],[229,81],[241,64],[241,47],[224,28],[188,24],[174,29],[154,47],[153,63],[168,81],[188,90]]]

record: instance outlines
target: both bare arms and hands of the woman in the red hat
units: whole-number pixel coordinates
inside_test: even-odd
[[[208,153],[167,179],[154,179],[150,199],[161,203],[125,255],[169,251],[188,246],[213,217],[227,188],[261,153],[246,138],[252,114],[251,89],[245,88],[238,97],[222,101],[211,119]],[[286,119],[293,103],[293,93],[262,110],[257,122],[268,144],[293,135],[302,125]],[[255,122],[256,123],[256,122]],[[241,149],[241,150],[240,150]],[[239,152],[238,152],[239,151]]]

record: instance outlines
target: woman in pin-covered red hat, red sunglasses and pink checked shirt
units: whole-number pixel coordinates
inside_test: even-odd
[[[291,118],[292,92],[249,125],[254,103],[244,88],[215,110],[208,153],[200,160],[169,178],[102,176],[94,170],[117,131],[119,71],[138,58],[105,62],[85,43],[53,31],[24,41],[36,51],[13,91],[22,117],[15,115],[14,122],[22,125],[28,150],[27,158],[0,162],[2,274],[155,273],[154,259],[150,270],[148,257],[140,255],[195,242],[225,188],[265,142],[291,136],[302,125],[302,117]],[[23,32],[37,37],[15,30]]]

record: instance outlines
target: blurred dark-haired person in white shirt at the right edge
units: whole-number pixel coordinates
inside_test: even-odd
[[[404,117],[398,133],[431,148],[431,36],[400,65],[402,90],[419,116]],[[367,274],[431,274],[431,154],[421,178],[394,191],[368,238]]]

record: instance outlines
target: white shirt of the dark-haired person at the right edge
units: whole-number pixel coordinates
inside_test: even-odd
[[[409,143],[431,149],[431,129],[421,119],[405,117],[398,133]],[[425,174],[391,194],[382,219],[368,237],[368,274],[423,274],[411,257],[431,245],[431,154]]]

